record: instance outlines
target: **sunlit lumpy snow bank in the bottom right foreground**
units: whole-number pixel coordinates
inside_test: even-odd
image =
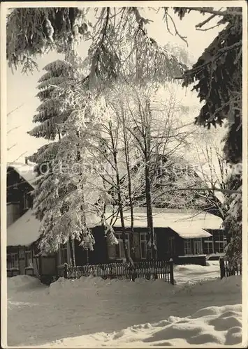
[[[119,332],[103,332],[48,343],[40,348],[144,348],[191,345],[235,346],[242,342],[242,306],[210,306],[186,318],[170,316],[154,324],[134,325]]]

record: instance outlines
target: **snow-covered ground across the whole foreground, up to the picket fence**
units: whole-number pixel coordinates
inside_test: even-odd
[[[175,267],[174,286],[82,277],[48,287],[15,276],[8,279],[8,346],[237,345],[241,277],[219,280],[219,263],[209,263]]]

